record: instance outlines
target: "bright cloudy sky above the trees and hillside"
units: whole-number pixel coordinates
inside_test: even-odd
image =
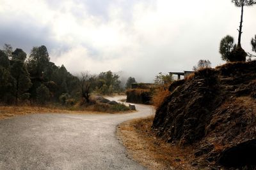
[[[221,60],[221,38],[237,43],[241,9],[230,0],[0,0],[0,46],[30,53],[47,46],[70,73],[113,71],[152,82],[162,72],[189,71]],[[256,5],[244,8],[241,44],[252,53]]]

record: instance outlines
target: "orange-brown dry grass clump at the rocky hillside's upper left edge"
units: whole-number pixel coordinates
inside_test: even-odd
[[[169,87],[169,85],[161,86],[154,93],[154,95],[152,97],[152,104],[156,108],[159,108],[159,106],[161,106],[161,104],[164,102],[164,99],[167,96],[170,96],[171,92],[168,90],[168,87]]]

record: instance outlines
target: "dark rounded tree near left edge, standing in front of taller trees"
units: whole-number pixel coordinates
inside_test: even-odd
[[[15,103],[28,98],[28,90],[31,87],[29,73],[22,60],[15,60],[10,72],[15,78]]]

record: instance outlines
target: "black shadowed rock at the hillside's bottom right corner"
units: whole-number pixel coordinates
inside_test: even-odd
[[[256,139],[225,149],[220,155],[219,163],[227,167],[255,166]]]

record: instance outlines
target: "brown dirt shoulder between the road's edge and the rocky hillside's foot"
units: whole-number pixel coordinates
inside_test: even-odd
[[[193,148],[180,147],[156,138],[151,132],[154,117],[131,120],[118,125],[116,135],[129,157],[148,169],[196,169]]]

